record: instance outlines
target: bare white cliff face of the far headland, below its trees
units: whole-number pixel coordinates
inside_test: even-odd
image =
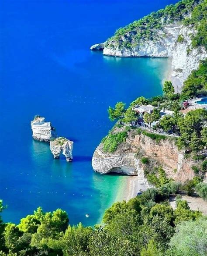
[[[103,49],[104,55],[117,57],[169,57],[172,58],[170,79],[176,92],[180,92],[183,82],[191,71],[198,68],[200,60],[207,57],[204,47],[192,48],[191,35],[196,30],[183,26],[181,22],[165,25],[157,30],[153,40],[142,40],[132,49],[116,46],[113,41]],[[178,38],[182,40],[178,42]]]

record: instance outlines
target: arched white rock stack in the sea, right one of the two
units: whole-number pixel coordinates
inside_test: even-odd
[[[72,149],[73,141],[66,139],[64,137],[58,137],[50,141],[50,150],[54,158],[59,158],[62,153],[66,156],[66,161],[72,161]]]

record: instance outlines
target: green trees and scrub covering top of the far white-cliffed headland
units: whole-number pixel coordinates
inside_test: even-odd
[[[191,14],[190,18],[187,18]],[[124,28],[119,28],[114,36],[107,39],[105,47],[134,48],[146,40],[156,40],[157,30],[166,24],[182,22],[183,25],[194,26],[197,35],[192,35],[192,46],[207,47],[207,1],[206,0],[182,0],[177,4],[171,4],[164,9],[134,21]]]

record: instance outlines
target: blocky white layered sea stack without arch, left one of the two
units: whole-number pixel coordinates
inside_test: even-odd
[[[45,117],[35,116],[31,121],[32,137],[39,141],[49,142],[56,137],[55,128],[51,122],[45,122]]]

